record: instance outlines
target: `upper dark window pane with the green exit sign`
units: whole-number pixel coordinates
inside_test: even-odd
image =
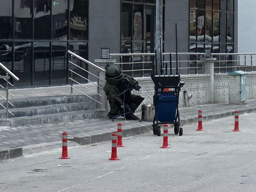
[[[52,38],[67,40],[68,20],[67,20],[68,1],[55,0],[52,4]]]

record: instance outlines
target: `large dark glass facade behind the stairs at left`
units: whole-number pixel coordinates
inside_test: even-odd
[[[88,57],[88,0],[1,0],[0,5],[0,62],[20,78],[11,79],[14,86],[67,84],[67,50]]]

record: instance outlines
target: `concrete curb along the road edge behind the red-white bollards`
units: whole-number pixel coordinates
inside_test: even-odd
[[[249,114],[254,112],[256,112],[256,108],[242,109],[242,110],[239,110],[239,115]],[[235,111],[203,115],[203,121],[211,121],[214,119],[226,118],[231,116],[235,116]],[[189,125],[194,123],[198,123],[197,116],[181,119],[181,124],[183,125]],[[123,128],[122,136],[129,137],[129,136],[139,135],[146,132],[150,132],[150,130],[152,131],[152,129],[153,127],[151,125],[132,127],[132,128]],[[93,134],[93,135],[80,134],[78,136],[75,136],[74,138],[70,137],[68,138],[69,140],[68,146],[76,146],[76,143],[79,145],[88,145],[88,144],[102,142],[102,141],[109,141],[111,140],[111,134],[113,132],[116,132],[116,131],[109,131],[109,132]],[[61,148],[61,146],[62,146],[62,141],[55,141],[55,142],[49,142],[49,143],[23,146],[22,148],[4,149],[4,150],[0,150],[0,160],[8,160],[10,158],[20,157],[20,156],[23,156],[23,153],[24,155],[29,155],[33,153],[39,153],[42,151],[52,150],[55,148]]]

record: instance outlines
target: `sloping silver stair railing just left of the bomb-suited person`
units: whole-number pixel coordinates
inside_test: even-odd
[[[68,61],[68,62],[71,64],[71,68],[68,69],[68,70],[71,72],[71,73],[70,73],[70,74],[71,74],[71,77],[69,77],[69,79],[70,79],[70,85],[69,85],[69,86],[71,87],[71,93],[70,93],[70,94],[73,94],[73,89],[75,89],[76,91],[78,91],[78,92],[82,93],[83,95],[85,95],[85,96],[91,98],[92,100],[96,101],[96,102],[97,102],[97,109],[99,109],[99,104],[102,105],[102,103],[99,102],[99,97],[102,97],[102,95],[99,94],[99,89],[103,89],[102,87],[99,86],[99,80],[102,80],[102,79],[99,77],[99,71],[105,72],[105,70],[102,69],[102,68],[100,68],[100,67],[98,67],[97,65],[93,64],[92,62],[90,62],[90,61],[88,61],[88,60],[86,60],[86,59],[80,57],[79,55],[77,55],[77,54],[75,54],[75,53],[69,51],[69,50],[68,50],[68,53],[71,55],[71,61]],[[84,69],[84,68],[82,68],[82,67],[76,65],[75,63],[73,63],[73,62],[72,62],[72,58],[73,58],[73,57],[77,58],[78,60],[80,60],[80,61],[82,61],[82,62],[84,62],[84,63],[89,64],[90,66],[92,66],[92,67],[94,67],[94,68],[96,68],[96,70],[97,70],[97,75],[94,75],[94,74],[93,74],[92,72],[90,72],[89,70],[86,70],[86,69]],[[89,73],[89,74],[91,74],[92,76],[96,77],[96,78],[97,78],[97,84],[94,83],[94,82],[92,82],[91,80],[89,80],[89,78],[86,78],[86,77],[84,77],[84,76],[82,76],[82,75],[76,73],[76,72],[73,70],[73,67],[74,67],[74,66],[76,66],[77,68],[82,69],[82,70],[85,71],[86,73]],[[95,92],[95,91],[93,91],[92,89],[88,88],[88,87],[85,86],[84,84],[81,84],[81,83],[79,83],[78,81],[76,81],[76,80],[73,78],[73,75],[79,76],[79,77],[85,79],[86,81],[88,81],[88,82],[94,84],[95,86],[97,86],[97,92]],[[85,94],[84,92],[80,91],[79,89],[75,88],[75,87],[73,86],[73,83],[79,84],[79,85],[81,85],[82,87],[88,89],[89,91],[91,91],[91,92],[93,92],[93,93],[96,93],[96,95],[97,95],[97,100],[93,99],[92,97],[90,97],[89,95],[87,95],[87,94]]]

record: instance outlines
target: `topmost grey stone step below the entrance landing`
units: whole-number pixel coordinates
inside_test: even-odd
[[[96,98],[96,95],[89,95],[92,98]],[[60,95],[60,96],[42,96],[42,97],[28,97],[9,99],[14,107],[9,104],[9,108],[26,108],[45,105],[55,105],[64,103],[79,103],[79,102],[92,102],[93,100],[85,95]],[[6,102],[2,102],[2,105],[6,106]],[[2,108],[2,107],[0,107]]]

